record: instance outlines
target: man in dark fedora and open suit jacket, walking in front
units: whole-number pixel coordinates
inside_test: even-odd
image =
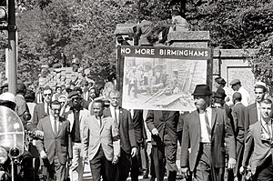
[[[208,85],[197,85],[193,93],[196,111],[188,114],[183,126],[181,171],[197,181],[224,180],[227,168],[236,166],[235,138],[225,110],[211,108]]]

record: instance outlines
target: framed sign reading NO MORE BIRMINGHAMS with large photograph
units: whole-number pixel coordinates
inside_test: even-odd
[[[192,111],[196,85],[211,75],[210,49],[120,46],[119,84],[127,109]]]

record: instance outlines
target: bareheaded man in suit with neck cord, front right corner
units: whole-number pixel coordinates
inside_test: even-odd
[[[242,167],[243,174],[249,159],[253,180],[273,180],[272,163],[272,101],[264,99],[260,103],[261,120],[249,126]]]

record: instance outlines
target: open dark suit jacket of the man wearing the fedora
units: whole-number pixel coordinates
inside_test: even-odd
[[[225,167],[225,153],[227,144],[229,157],[236,158],[235,139],[226,111],[212,108],[211,115],[211,156],[212,165]],[[201,125],[199,114],[196,111],[188,114],[183,126],[181,146],[181,167],[188,167],[194,171],[197,164],[197,155],[200,148]]]

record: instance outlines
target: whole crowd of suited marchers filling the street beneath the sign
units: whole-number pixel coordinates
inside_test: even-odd
[[[256,83],[249,105],[238,79],[231,88],[226,84],[217,77],[216,92],[196,85],[191,113],[126,110],[114,79],[100,92],[89,83],[36,91],[19,83],[14,96],[2,85],[0,105],[13,109],[35,136],[25,146],[33,157],[32,180],[83,180],[85,166],[94,181],[273,180],[267,85]]]

